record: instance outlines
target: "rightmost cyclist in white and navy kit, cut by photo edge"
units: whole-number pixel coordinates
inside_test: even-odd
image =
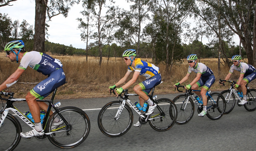
[[[241,62],[242,56],[240,55],[234,55],[232,56],[231,60],[233,62],[233,65],[230,67],[229,73],[227,74],[225,80],[229,80],[231,74],[234,72],[234,70],[240,72],[240,76],[237,80],[237,83],[234,85],[234,87],[237,88],[237,90],[241,93],[243,92],[243,99],[238,104],[243,105],[247,103],[246,100],[246,85],[250,83],[252,80],[256,77],[256,70],[252,65],[249,65],[247,63]],[[223,82],[225,83],[225,82]],[[223,85],[223,83],[220,83],[220,85]]]

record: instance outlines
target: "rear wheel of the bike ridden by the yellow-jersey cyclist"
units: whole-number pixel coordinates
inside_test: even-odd
[[[172,100],[161,98],[156,100],[157,107],[150,116],[149,125],[156,131],[169,130],[177,119],[177,108]]]

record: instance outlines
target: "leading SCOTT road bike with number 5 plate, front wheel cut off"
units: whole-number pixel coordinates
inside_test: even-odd
[[[36,137],[39,140],[44,140],[48,137],[49,141],[60,148],[72,148],[81,144],[89,134],[90,120],[87,114],[77,107],[63,107],[59,108],[60,103],[54,103],[54,97],[57,88],[53,91],[51,100],[37,100],[41,102],[48,102],[49,107],[45,114],[45,119],[42,127],[45,131],[43,136]],[[13,111],[23,122],[34,129],[35,124],[13,106],[14,102],[26,101],[26,99],[14,98],[13,92],[0,92],[0,95],[9,96],[8,98],[0,99],[6,100],[6,105],[0,110],[0,151],[13,150],[20,142],[22,127],[18,119],[9,113]],[[55,112],[49,116],[50,110],[53,108]],[[62,119],[64,123],[59,126],[54,126],[55,118]]]

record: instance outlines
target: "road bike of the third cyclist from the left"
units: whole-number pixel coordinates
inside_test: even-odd
[[[179,87],[185,88],[185,86],[176,86],[179,92],[183,92],[179,90]],[[175,88],[176,90],[176,88]],[[186,124],[191,120],[195,112],[195,104],[193,101],[196,102],[198,108],[197,112],[201,113],[203,106],[199,104],[197,99],[194,97],[194,93],[191,92],[192,90],[186,89],[186,93],[182,95],[178,95],[173,99],[173,102],[177,106],[178,109],[178,117],[176,120],[177,124]],[[193,91],[200,91],[200,90],[193,90]],[[211,91],[206,92],[207,97],[207,114],[206,116],[211,120],[218,120],[222,117],[225,112],[226,103],[224,97],[217,92],[211,93]]]

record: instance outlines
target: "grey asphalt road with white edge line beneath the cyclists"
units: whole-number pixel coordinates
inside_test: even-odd
[[[173,99],[179,94],[157,95],[157,99]],[[137,101],[137,97],[130,99],[132,102]],[[256,150],[256,112],[248,112],[243,106],[238,107],[236,104],[231,113],[223,115],[219,120],[210,120],[207,116],[198,117],[195,111],[187,124],[175,124],[165,132],[155,131],[147,124],[141,128],[132,126],[123,136],[112,138],[99,130],[97,117],[100,109],[113,100],[117,99],[106,97],[55,100],[61,102],[61,107],[76,106],[87,113],[91,129],[86,140],[75,148],[62,149],[51,144],[49,140],[22,138],[15,150]],[[28,110],[26,102],[18,102],[14,106],[22,113]],[[133,124],[137,121],[138,115],[134,113]],[[31,130],[25,123],[21,124],[24,132]]]

